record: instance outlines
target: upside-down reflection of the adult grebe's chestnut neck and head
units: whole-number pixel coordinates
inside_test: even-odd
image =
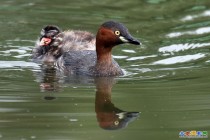
[[[127,112],[115,107],[111,101],[112,85],[114,83],[114,78],[95,78],[95,112],[99,126],[106,130],[125,128],[139,116],[139,112]]]

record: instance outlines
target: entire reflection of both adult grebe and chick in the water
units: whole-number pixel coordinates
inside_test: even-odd
[[[40,89],[44,92],[57,92],[61,84],[87,85],[95,84],[95,112],[98,124],[105,130],[119,130],[125,128],[130,122],[139,117],[139,112],[129,112],[119,109],[112,103],[112,86],[116,83],[113,77],[84,77],[75,75],[60,76],[56,69],[50,65],[42,67],[42,71],[36,74],[40,81]],[[62,81],[62,82],[61,82]],[[53,96],[45,96],[45,100],[53,100]]]

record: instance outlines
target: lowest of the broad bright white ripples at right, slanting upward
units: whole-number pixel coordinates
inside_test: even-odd
[[[175,56],[172,58],[167,58],[167,59],[153,62],[153,64],[171,65],[171,64],[177,64],[177,63],[186,63],[186,62],[191,62],[191,61],[198,60],[204,57],[205,57],[205,54],[202,54],[202,53],[198,53],[194,55]]]

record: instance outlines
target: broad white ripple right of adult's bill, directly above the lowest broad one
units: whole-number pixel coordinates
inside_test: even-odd
[[[173,52],[179,52],[179,51],[184,51],[184,50],[189,50],[189,49],[202,48],[202,47],[206,47],[206,46],[210,46],[210,43],[172,44],[169,46],[161,47],[161,48],[159,48],[158,51],[162,52],[162,53],[165,53],[165,52],[173,53]]]

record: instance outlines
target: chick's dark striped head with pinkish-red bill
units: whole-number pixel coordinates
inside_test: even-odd
[[[48,46],[52,43],[55,36],[58,35],[61,30],[54,25],[47,25],[41,30],[40,46]]]

